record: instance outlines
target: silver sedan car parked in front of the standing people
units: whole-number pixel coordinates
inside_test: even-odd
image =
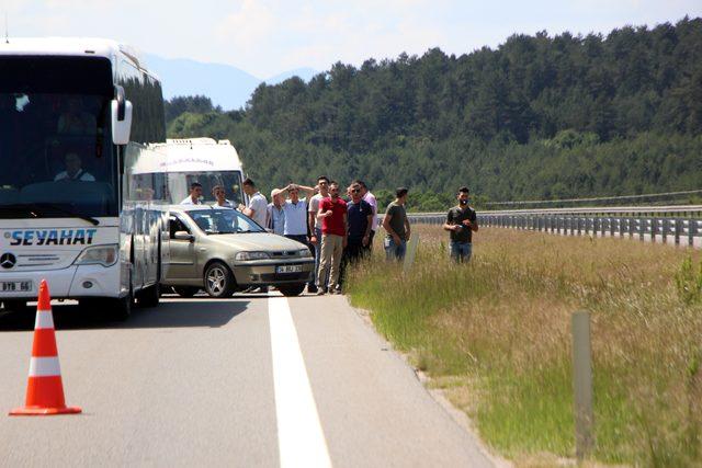
[[[169,228],[171,261],[162,284],[181,296],[205,289],[229,297],[249,286],[297,296],[312,278],[315,259],[304,243],[269,233],[235,209],[171,206]]]

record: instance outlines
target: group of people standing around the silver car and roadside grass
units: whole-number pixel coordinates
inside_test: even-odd
[[[307,285],[308,293],[340,293],[344,266],[363,259],[373,248],[378,228],[377,199],[361,180],[347,187],[346,198],[340,184],[326,175],[317,178],[314,187],[288,184],[273,189],[270,203],[251,179],[244,181],[242,190],[249,203],[235,207],[226,199],[224,189],[215,186],[216,205],[237,208],[271,232],[306,244],[315,255],[315,277]],[[383,246],[388,261],[405,258],[411,233],[405,209],[408,194],[407,189],[397,189],[383,217]],[[201,196],[202,186],[195,182],[182,204],[197,204]],[[473,232],[478,230],[477,215],[468,206],[468,187],[458,189],[456,199],[457,205],[449,209],[443,229],[450,232],[451,258],[467,262],[473,252]]]

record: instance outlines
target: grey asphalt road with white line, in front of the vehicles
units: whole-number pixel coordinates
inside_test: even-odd
[[[341,296],[54,306],[66,400],[24,403],[34,315],[0,315],[2,466],[492,466]]]

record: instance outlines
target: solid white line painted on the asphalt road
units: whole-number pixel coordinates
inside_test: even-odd
[[[331,467],[287,299],[269,298],[268,315],[281,467]]]

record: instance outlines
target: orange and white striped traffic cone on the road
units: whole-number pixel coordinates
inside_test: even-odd
[[[61,369],[58,365],[52,299],[46,279],[42,279],[36,306],[34,344],[32,345],[25,407],[10,411],[10,415],[70,414],[81,411],[80,408],[66,407],[64,400],[64,384],[61,383]]]

